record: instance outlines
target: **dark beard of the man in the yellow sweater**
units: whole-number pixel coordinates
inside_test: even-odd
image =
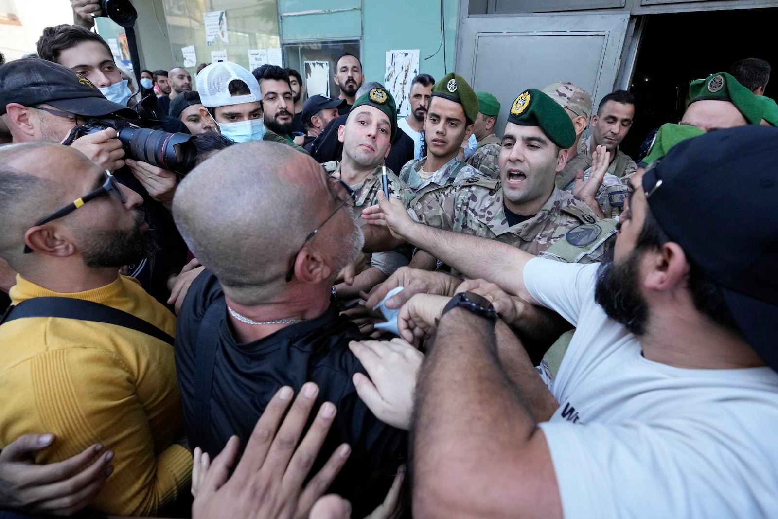
[[[116,267],[136,263],[159,252],[152,233],[142,233],[138,226],[145,213],[136,212],[136,223],[131,230],[92,231],[84,240],[82,259],[87,267]]]

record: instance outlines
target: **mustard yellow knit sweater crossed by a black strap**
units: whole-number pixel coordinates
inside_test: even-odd
[[[175,317],[119,276],[99,289],[54,293],[16,278],[14,304],[39,296],[103,303],[170,335]],[[0,446],[26,433],[54,433],[37,463],[61,461],[100,443],[116,454],[114,473],[93,507],[150,515],[187,490],[191,454],[183,437],[173,347],[113,324],[30,317],[0,326]]]

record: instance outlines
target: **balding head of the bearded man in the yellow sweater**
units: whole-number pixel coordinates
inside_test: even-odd
[[[23,142],[0,148],[0,164],[0,256],[22,274],[28,266],[43,265],[46,256],[73,256],[88,267],[118,268],[156,251],[151,235],[141,228],[142,198],[128,188],[120,188],[124,202],[118,196],[100,198],[102,202],[94,198],[85,209],[79,205],[37,226],[40,219],[106,181],[104,171],[78,150],[53,142]],[[57,250],[51,245],[55,242]],[[23,254],[25,244],[35,254]]]

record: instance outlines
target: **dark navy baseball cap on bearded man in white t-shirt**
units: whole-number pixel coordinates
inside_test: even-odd
[[[778,128],[679,142],[643,175],[668,237],[720,289],[748,344],[778,370]],[[655,166],[654,166],[655,164]]]

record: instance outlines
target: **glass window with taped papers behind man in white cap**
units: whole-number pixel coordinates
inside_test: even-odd
[[[163,0],[173,47],[173,66],[184,66],[184,47],[195,47],[195,65],[187,66],[192,80],[201,63],[212,62],[212,51],[226,51],[227,61],[249,68],[249,49],[279,48],[277,0]],[[224,11],[219,31],[209,42],[205,12]],[[186,65],[189,65],[188,63]]]

